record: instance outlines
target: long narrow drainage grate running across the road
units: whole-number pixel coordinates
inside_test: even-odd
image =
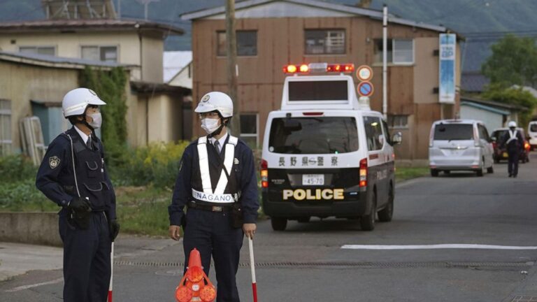
[[[182,267],[183,262],[136,262],[115,261],[117,266],[155,266]],[[475,267],[523,267],[532,266],[533,262],[257,262],[259,268],[475,268]],[[212,264],[211,264],[212,266]],[[250,267],[248,262],[239,264],[240,267]],[[520,300],[524,301],[524,300]],[[537,300],[536,300],[537,301]]]

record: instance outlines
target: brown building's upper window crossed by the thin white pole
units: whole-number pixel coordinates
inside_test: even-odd
[[[374,40],[375,63],[382,63],[382,39]],[[392,64],[414,63],[414,40],[413,39],[388,39],[387,62]]]

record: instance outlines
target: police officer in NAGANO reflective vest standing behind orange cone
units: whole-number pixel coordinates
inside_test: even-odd
[[[182,155],[169,206],[169,233],[179,240],[183,226],[185,264],[195,247],[208,275],[212,256],[217,302],[236,302],[235,275],[243,235],[253,239],[259,208],[254,157],[243,141],[227,131],[233,115],[227,94],[209,92],[195,112],[208,135],[192,142]]]

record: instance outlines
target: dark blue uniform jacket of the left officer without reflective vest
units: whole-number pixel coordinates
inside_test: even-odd
[[[69,136],[73,140],[72,151]],[[115,192],[104,165],[103,144],[92,135],[92,148],[89,148],[74,126],[48,146],[37,172],[36,187],[58,206],[66,207],[69,201],[78,198],[71,152],[80,196],[89,199],[93,211],[104,211],[108,219],[115,220]]]

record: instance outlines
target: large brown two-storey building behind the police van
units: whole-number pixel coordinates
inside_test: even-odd
[[[280,106],[286,64],[371,66],[371,105],[382,110],[382,12],[315,0],[250,0],[236,3],[235,16],[238,101],[241,129],[247,129],[243,138],[262,141],[268,112]],[[206,92],[227,91],[225,9],[199,10],[182,18],[192,20],[196,106]],[[446,32],[445,27],[389,16],[388,122],[403,133],[398,159],[427,159],[432,122],[452,118],[458,111],[458,89],[452,104],[440,103],[438,96],[439,34]],[[458,54],[458,43],[455,48]],[[459,60],[456,55],[456,87]]]

